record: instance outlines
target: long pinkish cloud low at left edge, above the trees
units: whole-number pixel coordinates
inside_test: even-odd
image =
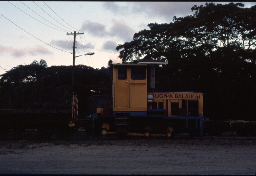
[[[24,48],[24,49],[16,49],[13,47],[4,47],[0,45],[0,53],[11,53],[12,56],[15,57],[21,57],[21,56],[26,56],[26,55],[38,55],[38,54],[43,54],[43,55],[48,55],[48,54],[53,54],[52,51],[42,47],[42,46],[35,46],[33,48]]]

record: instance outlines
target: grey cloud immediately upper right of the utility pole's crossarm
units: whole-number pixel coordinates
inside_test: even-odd
[[[97,36],[104,36],[108,32],[106,31],[106,26],[98,23],[92,22],[90,20],[85,20],[82,24],[82,31],[87,31],[89,34],[97,35]]]

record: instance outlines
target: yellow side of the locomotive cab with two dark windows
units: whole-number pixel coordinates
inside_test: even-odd
[[[147,65],[116,65],[113,71],[113,111],[147,111]]]

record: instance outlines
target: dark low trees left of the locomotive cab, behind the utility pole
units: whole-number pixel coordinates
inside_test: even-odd
[[[88,111],[90,96],[99,95],[97,92],[112,94],[111,75],[107,68],[102,70],[76,65],[74,90],[83,114]],[[18,65],[1,76],[0,109],[33,108],[34,102],[71,104],[72,66],[48,67],[41,59],[30,65]]]

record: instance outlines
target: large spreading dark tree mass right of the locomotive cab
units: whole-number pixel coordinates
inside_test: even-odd
[[[156,69],[156,88],[203,92],[212,120],[256,121],[256,6],[194,6],[170,24],[148,24],[116,47],[122,61],[167,59]]]

